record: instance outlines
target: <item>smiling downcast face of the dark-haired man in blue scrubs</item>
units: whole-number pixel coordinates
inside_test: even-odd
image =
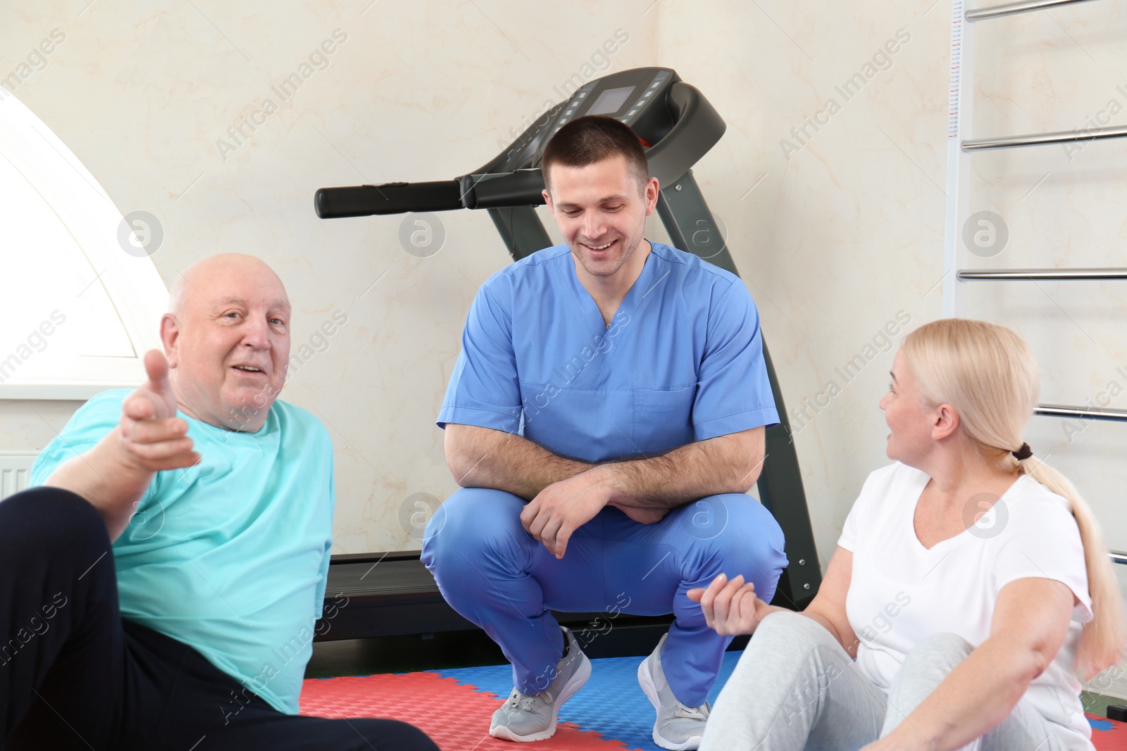
[[[584,167],[554,164],[544,200],[588,277],[602,286],[619,279],[632,284],[645,263],[637,253],[644,242],[646,217],[657,205],[657,180],[639,185],[624,157],[615,155]],[[631,262],[632,261],[632,262]]]

